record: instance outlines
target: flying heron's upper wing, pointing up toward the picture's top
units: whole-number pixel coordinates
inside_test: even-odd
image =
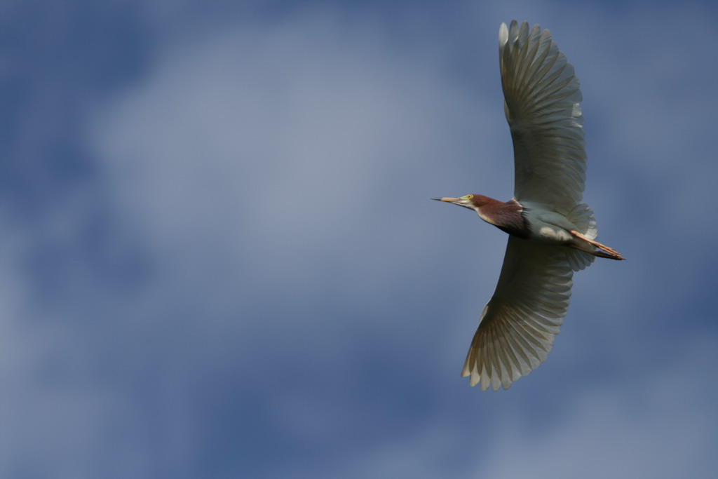
[[[586,181],[579,79],[549,30],[501,24],[501,85],[511,128],[514,197],[568,213]]]

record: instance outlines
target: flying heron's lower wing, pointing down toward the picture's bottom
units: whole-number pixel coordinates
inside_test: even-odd
[[[510,236],[496,291],[484,307],[462,376],[504,389],[549,355],[564,322],[573,271],[566,248]]]

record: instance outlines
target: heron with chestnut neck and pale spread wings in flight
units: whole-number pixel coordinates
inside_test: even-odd
[[[582,203],[587,157],[573,66],[538,24],[501,24],[498,47],[513,197],[432,198],[474,210],[509,235],[498,284],[462,369],[482,391],[508,389],[546,360],[569,307],[574,271],[596,257],[624,259],[595,240],[594,213]]]

